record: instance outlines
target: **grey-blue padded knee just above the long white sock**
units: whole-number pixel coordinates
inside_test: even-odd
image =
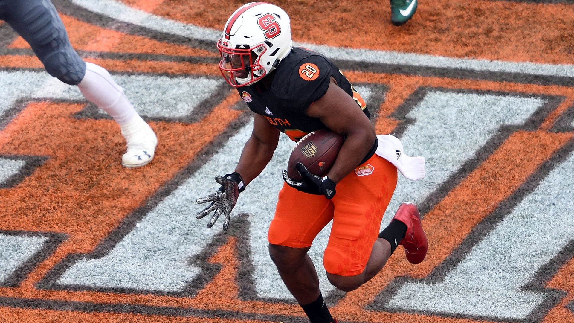
[[[86,63],[72,48],[50,53],[44,59],[46,72],[64,83],[77,85],[86,74]]]

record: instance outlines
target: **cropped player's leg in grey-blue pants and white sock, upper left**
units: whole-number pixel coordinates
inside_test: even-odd
[[[6,21],[30,44],[50,75],[77,86],[88,101],[118,122],[127,142],[123,166],[144,166],[153,159],[156,134],[138,115],[110,74],[104,68],[82,60],[72,48],[52,2],[0,0],[0,20]]]

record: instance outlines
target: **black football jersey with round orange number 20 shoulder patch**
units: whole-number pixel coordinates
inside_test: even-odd
[[[258,90],[257,83],[237,90],[251,111],[264,116],[294,141],[309,132],[327,128],[319,118],[307,116],[306,111],[327,92],[331,76],[370,117],[363,99],[351,83],[331,60],[320,53],[293,47],[274,73],[271,86],[263,92]]]

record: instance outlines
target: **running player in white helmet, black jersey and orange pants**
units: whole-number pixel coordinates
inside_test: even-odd
[[[339,68],[320,53],[292,47],[284,10],[265,2],[239,7],[227,20],[217,48],[224,78],[255,115],[235,171],[215,177],[221,187],[197,200],[211,202],[197,218],[215,212],[207,224],[211,228],[223,214],[227,230],[239,193],[269,163],[280,132],[295,141],[327,128],[345,136],[327,176],[319,178],[297,164],[303,178],[297,182],[283,171],[285,183],[267,234],[270,256],[309,320],[335,322],[307,254],[315,236],[333,221],[324,268],[334,286],[355,290],[382,269],[398,244],[404,245],[410,262],[424,259],[427,243],[417,207],[403,203],[379,233],[397,184],[397,167],[375,153],[378,140],[369,110]]]

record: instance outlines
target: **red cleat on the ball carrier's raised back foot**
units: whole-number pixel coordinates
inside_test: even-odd
[[[405,237],[398,243],[405,247],[406,260],[412,264],[421,263],[425,259],[428,242],[422,230],[421,216],[418,214],[417,206],[404,202],[398,207],[393,218],[406,224]]]

